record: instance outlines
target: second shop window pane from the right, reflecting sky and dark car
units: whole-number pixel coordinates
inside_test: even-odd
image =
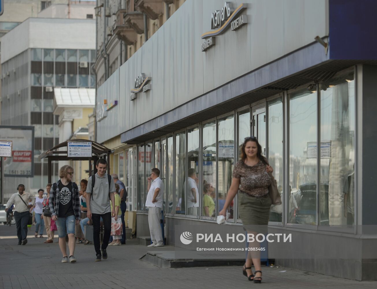
[[[305,89],[290,94],[289,107],[288,221],[315,225],[317,217],[317,91]]]

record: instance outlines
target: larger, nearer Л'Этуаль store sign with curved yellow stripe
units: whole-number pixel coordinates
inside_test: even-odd
[[[242,3],[233,9],[231,2],[225,2],[220,10],[211,13],[211,31],[202,35],[205,41],[202,43],[202,51],[215,45],[215,36],[224,33],[229,27],[231,31],[236,31],[247,23],[247,15],[240,15],[247,8],[247,4]]]

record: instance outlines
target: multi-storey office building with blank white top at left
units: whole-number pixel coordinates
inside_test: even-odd
[[[38,156],[59,143],[55,88],[95,88],[95,20],[28,18],[3,36],[1,51],[2,124],[35,128],[34,176],[6,177],[6,200],[15,183],[32,192],[46,186],[47,162]],[[53,172],[56,180],[57,163]]]

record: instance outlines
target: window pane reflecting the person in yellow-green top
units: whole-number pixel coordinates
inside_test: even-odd
[[[216,200],[216,120],[203,125],[203,200],[202,214],[205,217],[215,217]]]

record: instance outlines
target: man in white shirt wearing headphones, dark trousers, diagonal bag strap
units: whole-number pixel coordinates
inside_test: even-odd
[[[26,237],[28,236],[29,209],[34,206],[35,197],[31,193],[24,192],[25,186],[23,184],[17,186],[17,191],[6,203],[5,212],[14,204],[18,245],[25,245],[28,243]],[[29,200],[31,200],[31,204],[28,204]]]

